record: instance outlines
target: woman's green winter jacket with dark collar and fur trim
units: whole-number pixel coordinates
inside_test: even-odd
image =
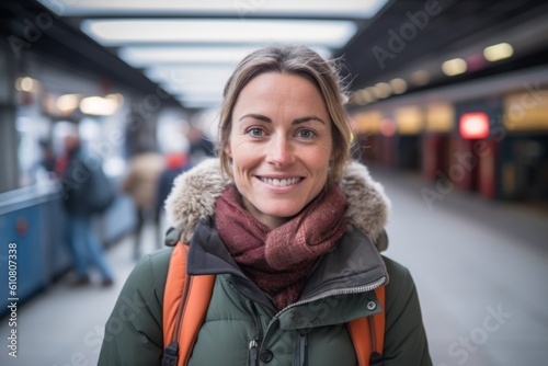
[[[217,274],[190,365],[354,366],[357,361],[346,323],[380,311],[373,289],[388,278],[384,365],[432,364],[411,275],[380,256],[383,240],[377,248],[369,240],[381,238],[388,201],[364,167],[350,167],[342,183],[347,214],[359,218],[347,215],[347,232],[321,259],[299,301],[282,311],[239,270],[212,213],[199,208],[199,215],[190,214],[199,206],[197,202],[208,209],[214,205],[225,184],[216,171],[217,165],[207,162],[181,176],[168,199],[171,221],[190,242],[187,272]],[[364,211],[361,204],[356,207],[354,194],[366,197],[362,204],[376,215]],[[194,198],[187,202],[191,195]],[[99,365],[161,364],[163,287],[171,252],[168,248],[147,255],[132,272],[106,323]]]

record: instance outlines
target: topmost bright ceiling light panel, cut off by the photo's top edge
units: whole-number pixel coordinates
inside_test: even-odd
[[[157,15],[182,14],[226,14],[239,18],[253,15],[306,18],[351,18],[369,19],[387,3],[387,0],[78,0],[61,2],[58,0],[38,0],[59,16],[85,15]]]

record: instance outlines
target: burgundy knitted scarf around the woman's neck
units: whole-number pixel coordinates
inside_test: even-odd
[[[346,197],[333,184],[271,230],[243,208],[240,193],[230,185],[217,201],[215,224],[243,273],[281,310],[299,299],[317,261],[343,236],[345,208]]]

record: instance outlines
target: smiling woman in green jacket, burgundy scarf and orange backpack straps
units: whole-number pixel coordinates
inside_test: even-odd
[[[342,90],[307,47],[238,65],[218,158],[175,180],[174,244],[127,278],[99,365],[432,365],[412,277],[380,255],[390,203],[351,160]]]

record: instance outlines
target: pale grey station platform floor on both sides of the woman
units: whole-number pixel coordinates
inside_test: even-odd
[[[385,254],[413,275],[435,366],[548,365],[548,213],[372,170],[392,203]],[[155,249],[152,229],[146,233]],[[19,309],[18,358],[0,323],[0,365],[95,365],[104,323],[135,264],[127,237],[107,251],[114,286],[61,279]],[[99,281],[99,279],[98,279]],[[412,366],[412,365],[410,365]],[[414,365],[413,365],[414,366]]]

